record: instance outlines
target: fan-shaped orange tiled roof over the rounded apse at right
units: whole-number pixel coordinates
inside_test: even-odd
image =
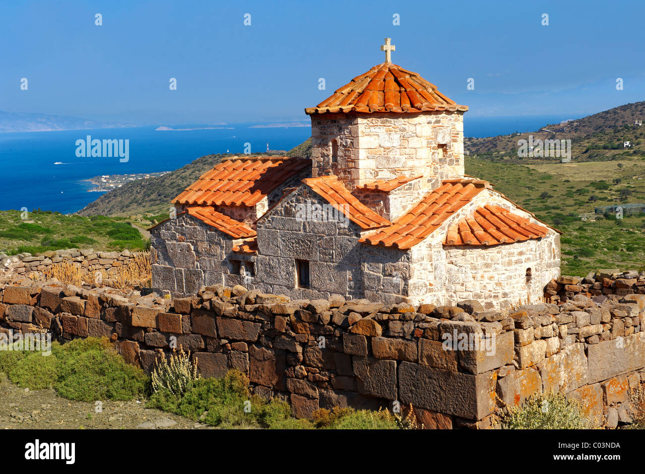
[[[549,230],[500,206],[477,209],[448,229],[446,245],[497,245],[544,237]]]

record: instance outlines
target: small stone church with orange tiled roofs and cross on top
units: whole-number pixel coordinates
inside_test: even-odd
[[[559,276],[557,230],[464,175],[467,106],[386,61],[305,113],[311,159],[225,159],[151,230],[152,281],[173,295],[242,284],[489,308],[538,302]]]

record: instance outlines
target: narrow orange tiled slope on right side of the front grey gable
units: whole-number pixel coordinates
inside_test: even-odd
[[[356,199],[335,176],[306,178],[303,183],[362,229],[375,229],[392,223]]]

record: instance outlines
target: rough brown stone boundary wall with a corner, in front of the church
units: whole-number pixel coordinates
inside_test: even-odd
[[[176,342],[204,377],[241,370],[254,393],[287,400],[297,417],[398,402],[404,410],[412,404],[426,428],[491,428],[504,404],[517,406],[536,391],[581,401],[597,426],[642,415],[634,394],[645,380],[643,294],[608,295],[598,305],[577,293],[561,304],[498,311],[477,301],[290,300],[241,286],[170,300],[29,284],[0,288],[1,332],[106,336],[148,372]],[[448,336],[456,346],[444,344]]]

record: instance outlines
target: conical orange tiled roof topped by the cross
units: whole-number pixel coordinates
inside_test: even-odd
[[[437,90],[419,74],[392,63],[374,66],[337,89],[331,97],[305,114],[326,112],[424,112],[428,110],[468,110]]]

